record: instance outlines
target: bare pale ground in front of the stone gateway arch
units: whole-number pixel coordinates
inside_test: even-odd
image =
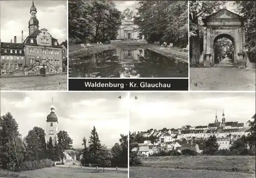
[[[190,90],[255,91],[255,70],[190,68]]]

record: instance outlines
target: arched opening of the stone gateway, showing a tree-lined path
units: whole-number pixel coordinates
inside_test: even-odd
[[[214,51],[212,53],[212,63],[218,65],[233,65],[236,58],[236,43],[234,38],[228,34],[218,35],[214,39]]]

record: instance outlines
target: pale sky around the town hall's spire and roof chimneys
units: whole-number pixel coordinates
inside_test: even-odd
[[[48,32],[61,43],[67,39],[67,1],[34,1],[37,9],[36,18],[39,29],[46,28]],[[1,41],[10,42],[17,36],[17,42],[22,42],[29,35],[28,22],[31,18],[32,1],[0,1]]]

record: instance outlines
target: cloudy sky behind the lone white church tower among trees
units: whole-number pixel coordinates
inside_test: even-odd
[[[10,112],[24,138],[34,126],[46,130],[53,98],[58,130],[69,133],[74,148],[83,148],[82,139],[89,140],[93,126],[101,144],[111,148],[120,134],[129,133],[128,97],[119,92],[1,92],[1,116]]]

